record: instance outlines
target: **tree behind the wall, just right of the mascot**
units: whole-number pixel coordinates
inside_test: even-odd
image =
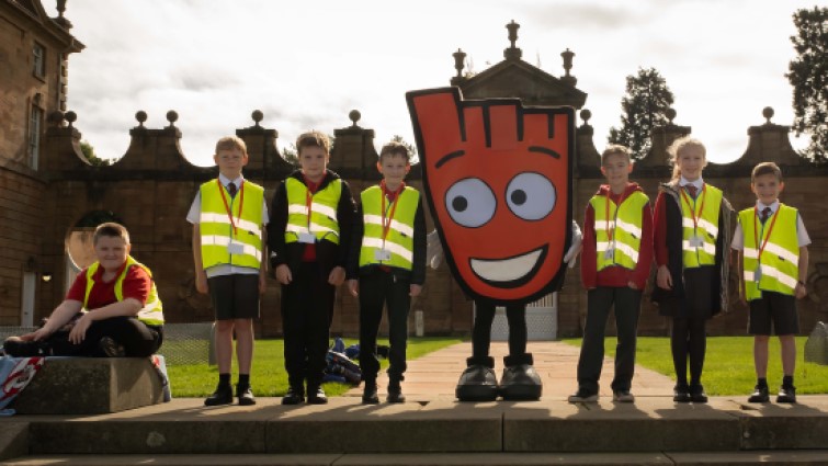
[[[643,158],[653,146],[650,130],[669,123],[666,113],[672,103],[672,92],[658,70],[638,68],[636,76],[626,78],[626,95],[621,100],[621,128],[610,128],[610,144],[628,147],[636,160]]]

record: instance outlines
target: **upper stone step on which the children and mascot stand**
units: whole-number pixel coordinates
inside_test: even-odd
[[[9,421],[14,429],[5,436],[13,451],[24,437],[34,455],[828,451],[825,396],[803,396],[794,406],[748,406],[726,397],[707,405],[666,397],[578,405],[258,401],[205,408],[191,398],[109,414],[20,416]],[[0,457],[11,456],[19,454]]]

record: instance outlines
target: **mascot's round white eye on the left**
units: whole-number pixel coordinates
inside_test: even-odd
[[[466,178],[452,184],[445,193],[445,208],[455,223],[477,228],[495,215],[497,200],[488,184],[478,178]]]

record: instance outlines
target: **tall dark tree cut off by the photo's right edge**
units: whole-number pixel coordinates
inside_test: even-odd
[[[828,161],[828,8],[797,10],[797,35],[791,36],[796,50],[785,75],[794,87],[796,136],[810,136],[803,155],[817,162]]]

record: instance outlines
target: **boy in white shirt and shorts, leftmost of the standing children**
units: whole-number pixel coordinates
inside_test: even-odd
[[[213,160],[218,166],[218,178],[201,185],[186,215],[186,220],[193,224],[195,287],[200,293],[209,293],[216,317],[218,386],[204,405],[232,402],[234,334],[239,365],[236,397],[239,405],[256,405],[250,367],[253,319],[259,317],[259,295],[266,286],[268,205],[264,189],[241,174],[248,162],[243,140],[223,137],[216,144]]]

